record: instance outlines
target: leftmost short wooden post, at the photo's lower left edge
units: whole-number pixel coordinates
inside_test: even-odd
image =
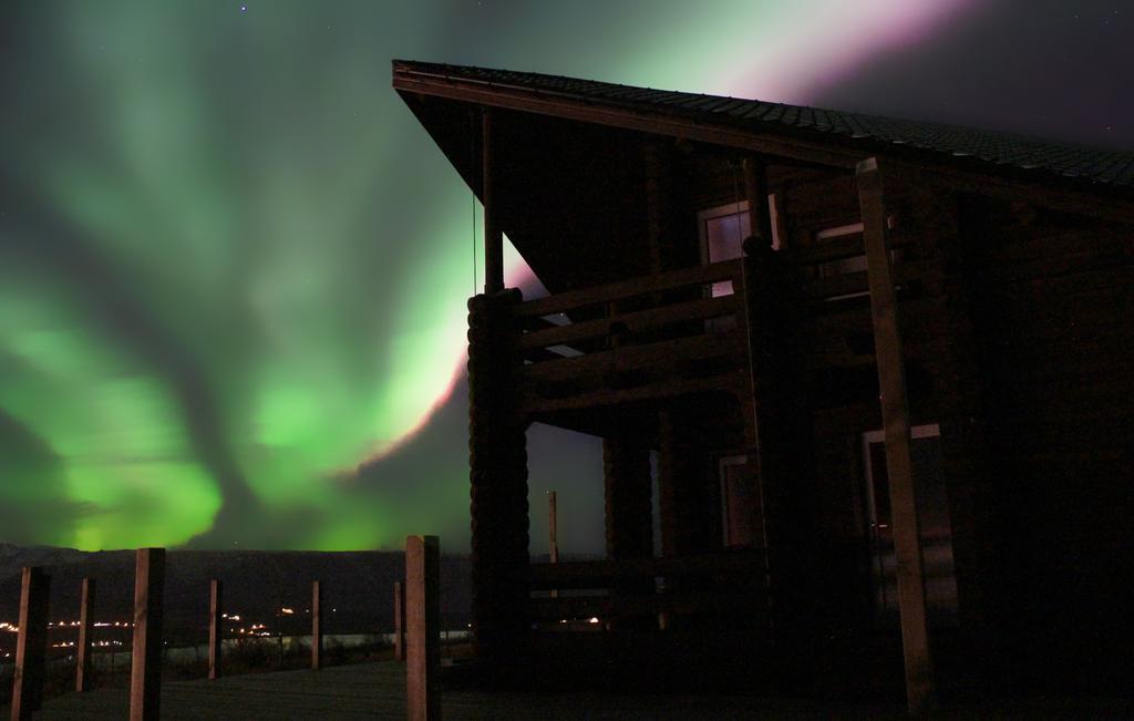
[[[51,577],[42,568],[25,567],[19,588],[19,635],[16,637],[16,673],[11,686],[11,720],[31,719],[43,702],[43,675],[48,654],[48,597]]]

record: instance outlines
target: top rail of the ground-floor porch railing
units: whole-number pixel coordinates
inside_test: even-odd
[[[661,576],[743,576],[763,572],[762,552],[730,552],[714,555],[685,555],[602,561],[532,563],[527,584],[533,591],[550,588],[608,588],[627,582]],[[756,576],[753,576],[754,578]]]

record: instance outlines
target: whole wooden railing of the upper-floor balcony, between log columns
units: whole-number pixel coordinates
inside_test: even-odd
[[[713,297],[714,283],[733,292]],[[530,413],[730,388],[743,376],[742,265],[728,261],[521,304]],[[725,376],[725,378],[722,378]]]

